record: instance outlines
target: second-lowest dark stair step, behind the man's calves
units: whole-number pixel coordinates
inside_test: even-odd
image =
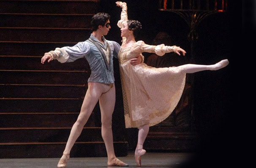
[[[0,144],[26,142],[66,142],[71,127],[0,128]],[[76,142],[102,142],[101,127],[84,127]]]

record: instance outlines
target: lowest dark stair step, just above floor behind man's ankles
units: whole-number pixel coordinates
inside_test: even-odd
[[[65,144],[65,142],[0,144],[0,158],[60,158]],[[117,157],[127,156],[128,142],[114,142],[114,152]],[[102,141],[76,142],[71,149],[70,157],[107,157],[106,147]]]

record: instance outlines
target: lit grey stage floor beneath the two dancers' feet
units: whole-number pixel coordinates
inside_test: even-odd
[[[193,155],[193,153],[187,152],[147,152],[142,157],[142,168],[176,168],[182,166],[187,160],[190,160]],[[136,168],[133,152],[128,152],[128,156],[126,157],[118,158],[127,163],[129,165],[128,168]],[[0,168],[57,168],[59,159],[60,158],[0,159]],[[108,167],[106,157],[71,157],[67,164],[67,168],[106,167]],[[109,166],[108,168],[111,167]]]

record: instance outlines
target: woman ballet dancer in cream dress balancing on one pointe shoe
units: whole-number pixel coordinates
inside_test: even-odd
[[[140,22],[128,20],[126,3],[117,1],[122,8],[121,19],[117,25],[121,29],[122,45],[118,54],[120,76],[123,89],[125,111],[125,127],[138,127],[138,142],[135,149],[135,161],[141,166],[141,156],[149,127],[166,119],[177,106],[184,86],[186,73],[196,73],[202,70],[219,70],[229,64],[221,60],[214,65],[185,64],[169,68],[153,68],[144,63],[132,66],[130,60],[138,53],[150,52],[159,56],[165,53],[186,51],[178,46],[153,46],[144,41],[136,41],[135,37],[142,28]]]

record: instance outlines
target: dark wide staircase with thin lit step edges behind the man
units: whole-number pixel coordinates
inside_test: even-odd
[[[85,41],[99,3],[0,0],[0,158],[61,157],[82,106],[90,67],[85,59],[42,65],[41,57]],[[120,119],[113,122],[118,121],[122,123],[113,125],[114,149],[117,156],[126,156],[125,127]],[[106,157],[98,106],[70,157]]]

